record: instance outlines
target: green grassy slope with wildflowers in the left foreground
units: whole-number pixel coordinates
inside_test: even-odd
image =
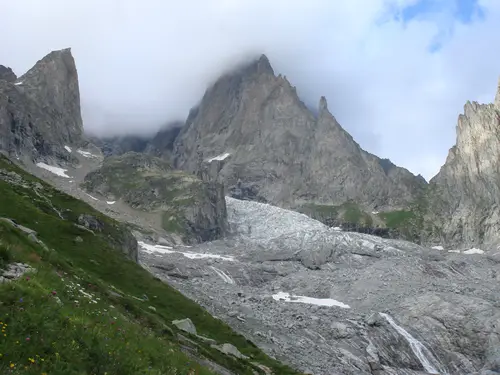
[[[0,156],[2,169],[40,182]],[[211,374],[180,350],[171,321],[187,317],[199,334],[232,343],[275,374],[297,374],[114,250],[109,241],[119,235],[120,224],[40,183],[65,220],[31,187],[0,179],[0,217],[35,230],[50,249],[0,221],[0,266],[22,261],[37,270],[0,284],[1,374]],[[108,230],[94,235],[76,227],[80,213],[98,217]],[[75,241],[77,237],[83,241]],[[138,299],[144,295],[148,301]],[[191,338],[199,344],[197,357],[237,374],[262,373],[249,361]]]

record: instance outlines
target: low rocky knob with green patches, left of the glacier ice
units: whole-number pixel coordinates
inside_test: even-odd
[[[188,243],[220,238],[227,230],[221,168],[206,163],[199,177],[173,170],[165,160],[129,152],[106,158],[82,186],[109,201],[119,200]]]

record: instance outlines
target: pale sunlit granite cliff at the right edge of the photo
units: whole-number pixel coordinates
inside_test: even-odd
[[[426,193],[428,236],[449,245],[500,242],[500,87],[493,104],[467,102],[457,141]]]

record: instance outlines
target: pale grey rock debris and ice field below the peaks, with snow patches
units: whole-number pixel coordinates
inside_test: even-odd
[[[140,260],[272,356],[317,375],[500,373],[500,254],[226,201],[228,238],[140,242]]]

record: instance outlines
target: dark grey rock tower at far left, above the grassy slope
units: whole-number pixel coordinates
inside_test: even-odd
[[[0,68],[0,151],[25,161],[74,161],[83,133],[70,49],[53,51],[18,79]]]

